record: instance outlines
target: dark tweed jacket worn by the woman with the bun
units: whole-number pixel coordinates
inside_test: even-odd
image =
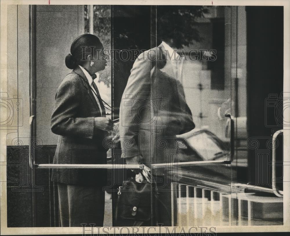
[[[102,145],[106,131],[94,129],[94,117],[99,116],[101,112],[88,80],[77,67],[66,75],[55,96],[51,130],[59,137],[54,164],[107,163],[108,149]],[[51,180],[68,184],[104,186],[106,178],[106,170],[103,169],[66,168],[53,169]]]

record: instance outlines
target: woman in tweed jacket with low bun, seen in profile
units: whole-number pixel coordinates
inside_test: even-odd
[[[102,50],[97,36],[84,34],[74,40],[66,56],[66,66],[72,71],[57,89],[51,117],[51,130],[59,135],[55,164],[106,164],[107,149],[102,143],[113,122],[106,118],[93,82],[95,73],[106,66]],[[52,170],[52,181],[58,185],[62,227],[89,223],[103,226],[106,179],[106,170]]]

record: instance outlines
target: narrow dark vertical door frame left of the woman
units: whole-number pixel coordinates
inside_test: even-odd
[[[30,99],[30,144],[36,137],[36,5],[29,5],[29,99]],[[29,158],[31,156],[29,155]],[[30,162],[33,165],[33,160]],[[30,165],[30,166],[31,166]],[[33,167],[33,166],[32,166]],[[34,170],[32,170],[33,174]],[[33,178],[34,179],[34,178]],[[36,226],[35,191],[32,194],[32,227]]]

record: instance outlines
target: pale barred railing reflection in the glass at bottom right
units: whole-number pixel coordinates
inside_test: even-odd
[[[283,224],[283,198],[231,187],[232,192],[221,192],[171,183],[172,226]]]

